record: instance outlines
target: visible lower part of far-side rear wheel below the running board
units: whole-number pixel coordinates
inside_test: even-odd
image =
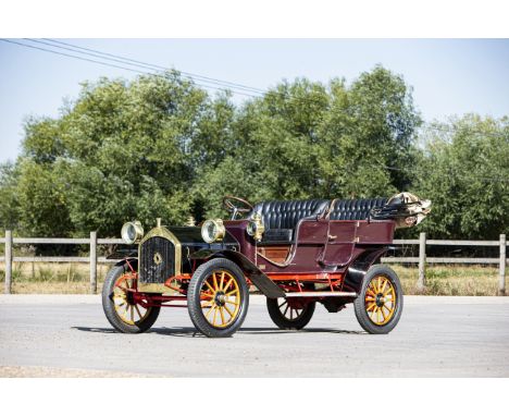
[[[299,330],[306,327],[314,314],[315,302],[296,298],[266,298],[266,308],[272,321],[281,329]]]

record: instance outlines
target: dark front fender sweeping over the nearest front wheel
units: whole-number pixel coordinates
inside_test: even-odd
[[[269,277],[261,271],[251,260],[249,260],[245,255],[232,249],[200,249],[193,253],[189,258],[194,260],[210,260],[215,257],[227,258],[235,262],[244,273],[249,278],[249,280],[254,284],[258,290],[263,293],[266,297],[273,299],[276,297],[285,297],[283,290],[277,286]]]

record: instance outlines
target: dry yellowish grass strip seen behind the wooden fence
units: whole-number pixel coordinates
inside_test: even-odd
[[[482,266],[429,266],[426,289],[417,289],[418,268],[393,265],[407,295],[494,296],[498,287],[498,268]],[[97,286],[102,289],[110,266],[98,265]],[[3,286],[4,265],[0,264]],[[88,264],[23,262],[13,265],[13,293],[85,294],[89,293]],[[507,286],[507,283],[506,283]],[[506,289],[509,292],[509,287]]]

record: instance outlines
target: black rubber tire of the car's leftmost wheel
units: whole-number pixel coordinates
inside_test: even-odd
[[[124,322],[116,314],[114,302],[113,302],[113,290],[116,281],[128,271],[126,265],[114,266],[110,269],[107,277],[104,278],[104,285],[102,286],[102,309],[111,326],[119,332],[123,333],[141,333],[149,330],[159,317],[161,307],[152,306],[147,317],[135,325]]]

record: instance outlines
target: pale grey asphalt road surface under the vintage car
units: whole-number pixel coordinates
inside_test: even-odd
[[[0,377],[509,377],[508,297],[407,296],[388,335],[363,332],[352,307],[321,305],[307,329],[281,331],[263,302],[233,338],[207,339],[185,308],[131,335],[98,296],[0,296]]]

